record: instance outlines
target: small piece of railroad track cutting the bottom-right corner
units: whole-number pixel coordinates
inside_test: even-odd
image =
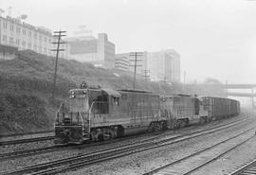
[[[246,165],[239,167],[233,172],[229,173],[229,175],[252,175],[256,174],[256,159],[248,162]]]

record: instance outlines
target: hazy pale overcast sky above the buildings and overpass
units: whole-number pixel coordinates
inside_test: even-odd
[[[0,0],[9,6],[34,26],[105,32],[116,53],[174,48],[191,81],[256,83],[256,1]]]

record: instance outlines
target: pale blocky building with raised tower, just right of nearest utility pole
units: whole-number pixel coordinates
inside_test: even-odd
[[[68,45],[68,59],[92,62],[102,67],[115,67],[115,44],[108,41],[105,33],[96,39],[91,36],[65,38]]]

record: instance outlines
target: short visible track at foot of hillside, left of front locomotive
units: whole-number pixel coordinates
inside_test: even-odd
[[[1,141],[0,146],[25,144],[25,143],[31,143],[31,142],[53,140],[53,139],[54,139],[54,136],[45,136],[45,137],[35,137],[35,138],[26,138],[26,139],[18,139],[18,140],[8,140],[8,141]]]

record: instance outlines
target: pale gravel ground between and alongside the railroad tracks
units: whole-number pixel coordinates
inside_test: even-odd
[[[192,152],[195,152],[199,149],[204,149],[213,145],[216,142],[224,140],[225,138],[229,138],[231,135],[235,133],[245,131],[247,128],[256,127],[256,112],[249,111],[247,114],[240,115],[237,117],[229,118],[227,120],[223,120],[222,123],[229,122],[238,118],[248,118],[249,122],[246,122],[243,125],[238,125],[236,127],[232,127],[223,131],[215,131],[208,135],[195,137],[188,141],[183,141],[177,144],[173,144],[166,147],[161,147],[157,149],[150,149],[143,152],[138,152],[136,154],[132,154],[129,156],[124,156],[118,159],[114,159],[112,161],[101,162],[98,165],[93,166],[83,166],[75,170],[71,170],[68,172],[60,173],[60,174],[91,174],[91,175],[130,175],[130,174],[142,174],[154,167],[162,166],[166,163],[173,162],[176,159],[179,159],[183,156],[189,155]],[[203,126],[204,127],[204,126]],[[183,129],[182,129],[183,130]],[[192,130],[190,128],[185,130]],[[255,128],[256,130],[256,128]],[[254,135],[254,131],[250,133]],[[178,130],[181,131],[181,130]],[[177,131],[177,132],[178,132]],[[170,131],[172,132],[172,131]],[[13,160],[2,161],[0,164],[1,170],[9,170],[12,168],[24,167],[24,166],[32,166],[35,164],[41,164],[48,161],[53,161],[57,159],[61,159],[64,157],[79,155],[82,153],[89,153],[101,149],[107,149],[115,146],[125,145],[126,143],[136,142],[138,139],[144,139],[147,136],[139,135],[136,138],[126,139],[119,143],[113,143],[109,145],[101,145],[93,148],[84,148],[84,149],[67,149],[67,150],[58,150],[53,152],[48,152],[39,155],[27,156],[15,158]],[[51,145],[51,142],[46,142],[45,145]],[[241,166],[247,161],[256,158],[256,136],[249,140],[243,146],[230,151],[227,155],[221,157],[214,163],[205,166],[200,169],[200,171],[196,171],[193,174],[202,174],[202,175],[221,175],[227,174],[231,170],[233,170],[237,166]],[[24,145],[24,148],[19,146],[19,149],[33,149],[37,147],[41,147],[38,144],[29,144]],[[27,148],[28,147],[28,148]],[[43,146],[42,146],[43,147]],[[45,147],[45,146],[44,146]],[[17,148],[0,148],[0,152],[3,151],[11,151],[16,150]]]

